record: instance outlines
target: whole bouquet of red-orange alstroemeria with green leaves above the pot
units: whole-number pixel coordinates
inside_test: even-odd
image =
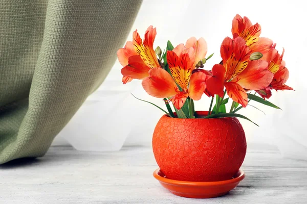
[[[122,82],[143,80],[142,86],[149,95],[163,98],[168,112],[160,109],[169,117],[248,119],[236,112],[246,107],[250,100],[279,109],[266,98],[272,95],[272,89],[293,90],[285,85],[289,71],[282,60],[284,50],[280,55],[275,49],[276,43],[259,37],[260,25],[253,25],[247,17],[236,15],[231,31],[232,38],[226,37],[221,45],[222,61],[211,70],[202,69],[213,55],[206,58],[207,43],[203,38],[191,37],[185,45],[176,47],[168,41],[162,52],[159,46],[153,49],[156,28],[150,25],[143,42],[135,31],[133,41],[128,41],[117,52],[119,62],[124,66]],[[203,94],[212,99],[208,115],[200,116],[194,111],[193,100],[200,100]],[[225,104],[229,98],[233,102],[227,113]],[[173,114],[170,102],[176,114]]]

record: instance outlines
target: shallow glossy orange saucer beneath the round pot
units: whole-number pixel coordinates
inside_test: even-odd
[[[234,189],[245,177],[242,170],[233,176],[232,179],[219,182],[184,182],[167,179],[167,177],[157,169],[153,176],[160,184],[175,195],[188,198],[213,198],[227,194]]]

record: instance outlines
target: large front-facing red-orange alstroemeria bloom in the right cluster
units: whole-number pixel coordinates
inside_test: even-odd
[[[250,61],[250,49],[242,37],[232,40],[226,37],[221,45],[223,65],[212,68],[212,77],[207,80],[207,90],[212,94],[227,94],[243,107],[247,106],[247,90],[266,88],[273,79],[268,63],[262,60]]]

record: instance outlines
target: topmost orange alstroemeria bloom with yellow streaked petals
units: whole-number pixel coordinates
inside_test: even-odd
[[[250,52],[260,52],[262,55],[269,52],[273,45],[273,41],[269,38],[259,37],[261,34],[261,27],[258,23],[252,24],[248,17],[241,17],[236,15],[232,20],[231,29],[233,39],[242,37],[246,45],[249,47]]]

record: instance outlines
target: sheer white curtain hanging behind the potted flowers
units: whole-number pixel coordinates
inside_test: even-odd
[[[285,157],[307,155],[307,134],[304,131],[306,109],[304,103],[307,82],[305,47],[306,27],[303,2],[294,1],[149,1],[145,0],[131,33],[138,29],[144,35],[148,25],[157,27],[155,46],[184,43],[189,37],[204,37],[208,43],[208,55],[214,56],[205,68],[221,61],[220,45],[226,36],[231,36],[231,22],[236,14],[247,16],[261,25],[261,36],[277,43],[277,48],[286,49],[284,60],[290,71],[287,85],[295,91],[273,91],[269,99],[283,111],[254,103],[263,113],[248,107],[241,112],[260,127],[241,120],[248,143],[277,145]],[[131,35],[127,40],[131,40]],[[66,138],[75,147],[84,150],[116,150],[122,145],[151,145],[151,136],[161,111],[129,95],[150,100],[163,107],[160,99],[148,96],[139,81],[122,85],[121,65],[115,63],[105,82],[84,103],[72,121],[59,134],[55,144]],[[196,101],[196,109],[207,110],[209,98],[205,95]],[[164,108],[164,107],[163,107]],[[94,121],[94,122],[93,122]],[[84,142],[86,141],[86,142]],[[78,145],[76,145],[78,144]]]

